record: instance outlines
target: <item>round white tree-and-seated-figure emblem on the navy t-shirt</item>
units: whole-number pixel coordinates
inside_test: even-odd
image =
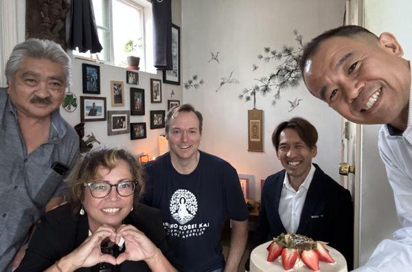
[[[170,214],[174,220],[183,225],[196,216],[197,200],[196,196],[189,190],[179,189],[173,193],[170,199]]]

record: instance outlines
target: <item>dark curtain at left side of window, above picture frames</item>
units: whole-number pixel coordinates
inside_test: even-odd
[[[102,51],[91,0],[71,0],[70,32],[67,47],[79,48],[80,52]]]

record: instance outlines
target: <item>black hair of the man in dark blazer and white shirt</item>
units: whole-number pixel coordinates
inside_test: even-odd
[[[305,144],[310,148],[316,146],[318,139],[316,128],[304,118],[293,117],[289,121],[280,123],[272,133],[272,143],[276,148],[276,152],[280,144],[280,133],[282,133],[282,131],[284,131],[284,129],[286,128],[294,129],[297,132],[297,135],[299,135],[299,137],[302,139],[302,141],[304,141]]]

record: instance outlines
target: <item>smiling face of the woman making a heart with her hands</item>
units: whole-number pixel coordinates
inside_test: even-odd
[[[117,184],[120,181],[133,180],[133,177],[128,163],[120,159],[117,161],[117,166],[112,170],[99,166],[95,179]],[[89,228],[92,232],[103,224],[117,229],[132,209],[133,194],[131,196],[120,196],[116,188],[112,187],[108,196],[103,199],[96,199],[91,195],[89,188],[84,188],[84,201],[82,204],[87,212]]]

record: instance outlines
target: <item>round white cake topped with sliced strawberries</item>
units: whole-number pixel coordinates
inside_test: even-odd
[[[251,272],[347,272],[343,255],[325,244],[299,234],[280,234],[253,249]]]

